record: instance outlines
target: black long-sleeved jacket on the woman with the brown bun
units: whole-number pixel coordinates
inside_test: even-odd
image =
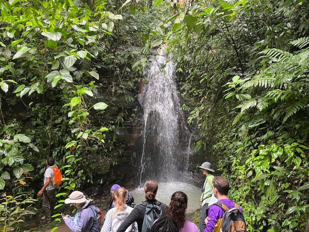
[[[155,204],[157,200],[151,201],[147,200],[147,204]],[[165,211],[167,210],[167,205],[164,203],[160,203],[159,206],[162,209],[162,216],[164,216]],[[117,232],[125,232],[125,230],[134,222],[137,222],[138,231],[142,231],[143,221],[145,217],[146,205],[139,204],[136,206],[133,211],[129,214],[129,216],[122,222],[120,227],[118,228]]]

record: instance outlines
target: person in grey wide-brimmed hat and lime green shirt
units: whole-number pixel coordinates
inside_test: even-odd
[[[211,196],[213,194],[214,185],[212,183],[212,180],[214,178],[214,175],[213,175],[214,170],[212,169],[210,162],[204,162],[201,166],[199,166],[199,168],[201,168],[201,171],[203,172],[203,174],[206,175],[204,187],[202,189],[201,200],[200,200],[200,205],[202,208],[201,218],[198,224],[198,227],[203,232],[206,228],[206,224],[205,224],[205,219],[207,217],[206,209],[208,207]]]

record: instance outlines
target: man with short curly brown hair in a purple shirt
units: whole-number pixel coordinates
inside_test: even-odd
[[[229,192],[229,182],[227,179],[216,176],[213,179],[214,196],[218,199],[218,203],[225,203],[229,209],[234,208],[234,202],[227,197]],[[240,212],[243,210],[239,207]],[[205,219],[206,228],[204,232],[220,232],[222,227],[222,218],[224,210],[218,205],[211,205],[208,211],[208,217]]]

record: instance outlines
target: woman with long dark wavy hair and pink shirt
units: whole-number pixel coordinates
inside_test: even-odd
[[[165,216],[173,218],[179,228],[179,232],[198,232],[197,226],[186,220],[188,197],[184,192],[174,192]]]

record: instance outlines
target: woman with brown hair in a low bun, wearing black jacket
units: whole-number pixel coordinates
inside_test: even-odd
[[[147,180],[144,185],[144,192],[145,192],[145,198],[146,201],[143,201],[142,204],[139,204],[136,206],[132,212],[129,214],[129,216],[123,221],[117,232],[125,232],[125,230],[134,222],[137,222],[138,231],[142,231],[143,228],[143,222],[146,212],[146,206],[147,205],[155,205],[158,207],[159,210],[161,210],[161,216],[164,216],[165,211],[167,209],[166,204],[158,201],[155,199],[155,196],[157,195],[158,191],[158,183],[155,180]],[[157,219],[158,217],[154,218]],[[153,221],[151,222],[151,225],[153,224]],[[150,229],[150,227],[149,227]]]

